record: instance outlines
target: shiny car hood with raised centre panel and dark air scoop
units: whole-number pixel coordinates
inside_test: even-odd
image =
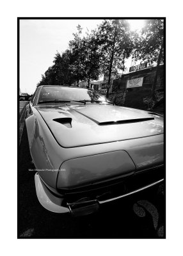
[[[82,147],[163,133],[163,117],[112,104],[36,106],[61,147]]]

